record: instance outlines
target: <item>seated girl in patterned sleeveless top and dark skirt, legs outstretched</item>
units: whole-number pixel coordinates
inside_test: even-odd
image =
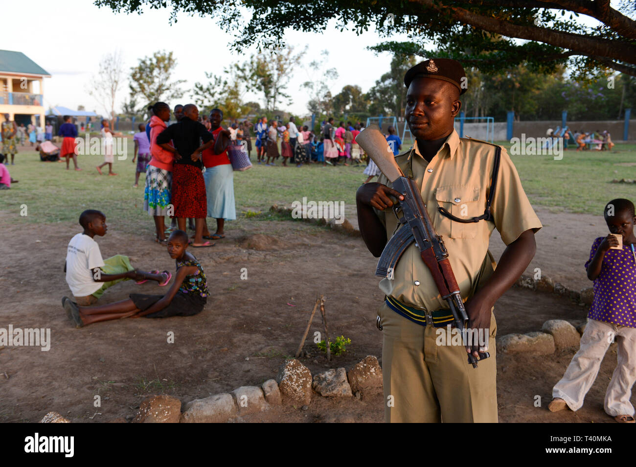
[[[168,254],[176,262],[176,279],[165,295],[131,293],[128,300],[85,307],[62,298],[62,305],[78,328],[125,317],[160,318],[193,316],[200,313],[207,302],[207,279],[197,258],[188,253],[188,234],[175,230],[168,239]]]

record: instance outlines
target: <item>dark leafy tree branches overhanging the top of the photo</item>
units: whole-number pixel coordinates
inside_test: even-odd
[[[550,73],[569,64],[584,76],[614,69],[636,76],[636,3],[621,0],[95,0],[114,11],[141,13],[142,7],[216,17],[233,32],[235,50],[256,43],[280,45],[284,30],[325,31],[332,18],[341,31],[362,34],[375,26],[380,36],[406,34],[410,40],[386,41],[375,50],[404,55],[450,57],[489,73],[502,63],[525,64]],[[590,27],[582,16],[598,20]],[[523,39],[518,41],[515,39]],[[426,43],[436,50],[428,50]]]

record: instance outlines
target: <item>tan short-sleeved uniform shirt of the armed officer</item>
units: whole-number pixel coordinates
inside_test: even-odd
[[[488,240],[492,230],[496,227],[508,245],[530,228],[537,232],[542,227],[541,222],[530,206],[515,166],[504,148],[491,206],[494,223],[484,220],[469,224],[454,222],[437,209],[438,206],[445,207],[453,216],[464,219],[484,213],[494,164],[493,144],[460,139],[453,130],[430,163],[418,152],[417,143],[414,151],[397,155],[396,162],[404,174],[408,174],[411,154],[413,180],[420,188],[433,227],[448,250],[455,279],[466,300],[480,278],[482,266],[489,262]],[[378,182],[391,186],[384,174],[380,174]],[[391,238],[397,225],[396,216],[390,208],[374,211],[387,229],[387,239]],[[428,310],[448,308],[415,242],[397,261],[394,279],[382,279],[380,289],[407,305]]]

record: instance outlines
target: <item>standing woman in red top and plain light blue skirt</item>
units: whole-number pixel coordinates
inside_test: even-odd
[[[210,112],[211,133],[216,139],[223,130],[221,127],[223,111],[212,109]],[[207,227],[204,229],[205,239],[222,239],[225,237],[225,220],[235,220],[237,218],[234,204],[234,171],[227,149],[222,153],[215,154],[214,146],[203,151],[203,164],[205,172],[205,192],[207,194],[207,216],[216,218],[216,232],[210,235]]]

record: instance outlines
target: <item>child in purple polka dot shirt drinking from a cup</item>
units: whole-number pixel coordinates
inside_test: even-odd
[[[605,412],[619,423],[634,423],[630,403],[636,381],[636,223],[630,200],[614,199],[605,205],[611,232],[594,240],[585,263],[594,281],[594,300],[581,336],[581,347],[552,390],[551,412],[578,410],[597,377],[609,345],[616,338],[618,365],[605,393]],[[616,236],[615,236],[616,235]],[[619,249],[622,240],[622,249]]]

